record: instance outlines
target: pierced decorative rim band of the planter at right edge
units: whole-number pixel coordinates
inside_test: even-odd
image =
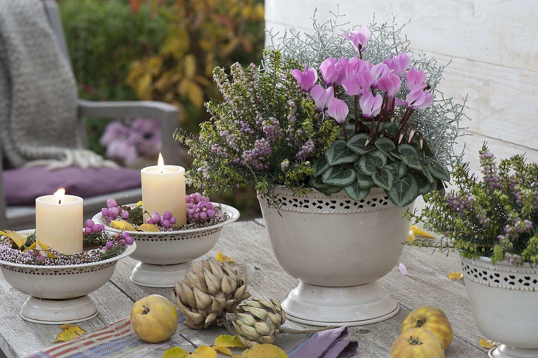
[[[492,265],[462,258],[463,276],[472,282],[506,290],[538,291],[538,268]]]

